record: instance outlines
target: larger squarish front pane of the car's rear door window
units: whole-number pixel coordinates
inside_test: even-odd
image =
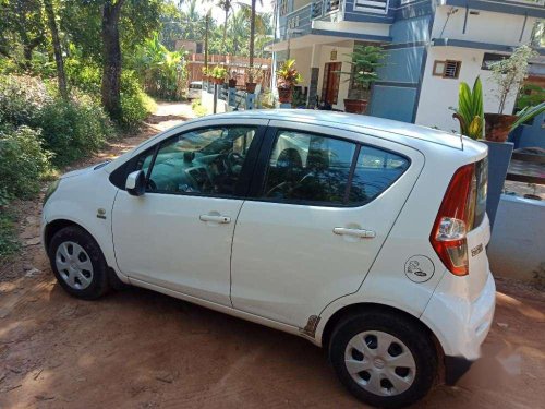
[[[281,201],[342,204],[355,144],[279,131],[264,196]]]

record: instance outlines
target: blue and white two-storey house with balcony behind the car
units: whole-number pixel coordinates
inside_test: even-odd
[[[485,111],[497,111],[489,63],[530,43],[545,0],[278,0],[276,13],[274,58],[295,59],[311,106],[318,97],[343,110],[344,98],[363,97],[370,115],[451,131],[461,81],[481,75]],[[347,73],[359,44],[388,52],[368,89]]]

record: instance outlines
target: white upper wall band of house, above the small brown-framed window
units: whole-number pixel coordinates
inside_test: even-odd
[[[522,27],[524,26],[523,15],[474,10],[479,12],[479,15],[468,14],[465,33],[463,33],[465,9],[458,8],[458,12],[450,16],[445,27],[448,10],[450,10],[450,7],[443,5],[437,8],[432,38],[456,38],[468,41],[521,46],[530,41],[532,28],[537,21],[536,17],[528,17],[522,39],[519,41]],[[445,27],[445,32],[441,35],[443,27]]]

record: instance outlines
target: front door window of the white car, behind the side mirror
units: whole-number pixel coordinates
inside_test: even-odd
[[[147,175],[148,192],[231,196],[256,131],[215,127],[185,132],[143,154],[137,168]]]

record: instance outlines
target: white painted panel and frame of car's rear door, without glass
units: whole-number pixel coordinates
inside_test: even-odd
[[[271,121],[269,127],[293,124]],[[360,141],[411,159],[410,168],[364,206],[244,202],[232,251],[233,306],[303,328],[329,302],[358,290],[424,166],[424,156],[373,135],[310,124],[296,129]],[[338,236],[336,227],[365,229],[376,237]]]

